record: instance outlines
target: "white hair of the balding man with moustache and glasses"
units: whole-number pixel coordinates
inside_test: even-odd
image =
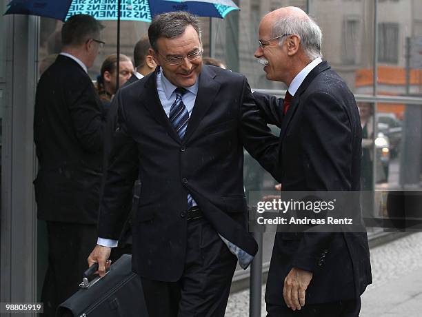
[[[301,47],[303,52],[310,60],[322,57],[321,43],[322,32],[313,19],[303,19],[302,17],[288,16],[277,20],[272,26],[272,37],[278,37],[284,34],[297,34],[301,38]],[[285,41],[282,37],[279,41],[281,45]]]

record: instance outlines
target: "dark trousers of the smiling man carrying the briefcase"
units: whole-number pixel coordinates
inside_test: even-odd
[[[205,218],[189,221],[181,278],[174,283],[141,278],[148,314],[223,317],[236,263],[236,256]]]

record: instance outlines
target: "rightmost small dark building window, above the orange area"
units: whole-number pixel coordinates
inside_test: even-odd
[[[378,61],[398,63],[399,61],[399,25],[397,23],[379,23]]]

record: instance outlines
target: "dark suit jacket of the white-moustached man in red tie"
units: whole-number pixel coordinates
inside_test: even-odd
[[[279,116],[274,97],[254,93],[265,119],[281,127],[283,191],[359,191],[361,123],[356,101],[323,61],[306,76],[290,109]],[[360,212],[359,199],[353,208]],[[372,283],[366,233],[277,233],[265,300],[285,305],[292,267],[313,272],[306,303],[356,298]]]

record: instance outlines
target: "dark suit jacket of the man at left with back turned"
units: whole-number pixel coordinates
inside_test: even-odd
[[[37,86],[34,181],[39,219],[97,223],[105,119],[88,74],[59,55]]]

